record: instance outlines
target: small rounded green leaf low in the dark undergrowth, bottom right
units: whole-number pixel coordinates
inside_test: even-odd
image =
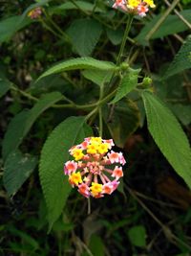
[[[146,246],[146,229],[143,225],[133,226],[128,230],[128,237],[131,244],[138,247]]]

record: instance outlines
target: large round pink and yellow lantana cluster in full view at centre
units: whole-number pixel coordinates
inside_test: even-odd
[[[74,160],[64,164],[64,173],[85,198],[103,198],[117,189],[126,161],[122,152],[112,151],[113,146],[112,139],[88,137],[70,149]]]

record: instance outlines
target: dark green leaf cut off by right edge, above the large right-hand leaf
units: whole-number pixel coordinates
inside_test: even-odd
[[[181,45],[180,51],[171,62],[163,79],[169,78],[188,68],[191,68],[191,35],[189,35],[187,40]]]

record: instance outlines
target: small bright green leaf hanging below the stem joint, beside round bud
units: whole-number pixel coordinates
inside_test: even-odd
[[[129,68],[127,74],[124,76],[117,88],[117,94],[111,104],[116,104],[119,100],[125,97],[129,92],[138,85],[138,73],[140,69]]]

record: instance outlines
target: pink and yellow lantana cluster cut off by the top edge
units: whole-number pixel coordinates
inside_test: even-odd
[[[131,12],[138,14],[141,17],[146,15],[146,12],[149,11],[149,8],[155,8],[153,0],[116,0],[113,8],[121,9],[124,12]]]

